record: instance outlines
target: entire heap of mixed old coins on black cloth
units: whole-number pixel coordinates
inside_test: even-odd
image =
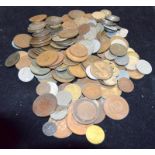
[[[151,64],[129,46],[128,30],[110,10],[40,14],[29,21],[28,34],[13,38],[18,51],[5,66],[15,65],[23,82],[38,79],[32,110],[49,117],[43,133],[56,138],[86,135],[90,143],[102,143],[105,132],[97,124],[106,116],[122,120],[129,114],[121,94],[132,92],[131,79],[150,74]]]

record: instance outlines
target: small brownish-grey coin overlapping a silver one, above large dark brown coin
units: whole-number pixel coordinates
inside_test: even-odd
[[[36,87],[36,93],[38,95],[50,93],[50,85],[47,82],[39,83]]]

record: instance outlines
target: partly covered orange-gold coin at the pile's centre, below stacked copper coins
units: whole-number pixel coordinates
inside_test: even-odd
[[[86,73],[85,71],[83,70],[82,66],[80,64],[78,65],[75,65],[75,66],[69,66],[68,67],[68,71],[75,77],[78,77],[78,78],[84,78],[86,77]]]

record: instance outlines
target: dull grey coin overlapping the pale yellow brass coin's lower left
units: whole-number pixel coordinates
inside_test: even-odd
[[[69,104],[72,101],[72,94],[70,92],[68,92],[68,91],[62,90],[62,91],[58,92],[56,98],[57,98],[59,106],[69,106]]]

